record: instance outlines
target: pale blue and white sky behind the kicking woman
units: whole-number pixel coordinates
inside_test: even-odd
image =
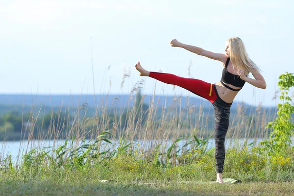
[[[144,95],[196,97],[139,76],[135,64],[216,83],[221,62],[170,41],[224,53],[225,41],[236,36],[267,88],[246,83],[235,100],[274,106],[279,75],[294,73],[293,6],[291,0],[0,0],[0,94],[130,94],[144,79]]]

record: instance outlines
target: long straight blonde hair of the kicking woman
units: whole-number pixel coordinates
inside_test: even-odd
[[[248,57],[243,41],[239,37],[233,37],[227,40],[229,42],[230,59],[238,69],[244,70],[245,75],[257,73],[261,70]]]

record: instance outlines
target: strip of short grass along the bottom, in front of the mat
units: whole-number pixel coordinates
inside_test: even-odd
[[[3,196],[292,196],[294,183],[196,184],[178,183],[140,185],[136,183],[66,183],[55,179],[0,186]]]

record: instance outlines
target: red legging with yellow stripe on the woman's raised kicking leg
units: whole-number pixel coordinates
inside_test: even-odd
[[[211,103],[218,98],[214,87],[215,84],[207,83],[199,79],[179,77],[170,73],[150,72],[149,76],[164,83],[187,89],[202,98],[206,98]]]

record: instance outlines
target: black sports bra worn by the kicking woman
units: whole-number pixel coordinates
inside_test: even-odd
[[[229,64],[229,61],[230,61],[230,58],[227,59],[227,61],[225,63],[225,67],[222,70],[221,84],[232,91],[240,91],[242,89],[242,87],[244,86],[245,81],[243,79],[241,79],[241,77],[239,75],[235,75],[233,73],[228,72],[227,66]],[[229,87],[228,85],[226,85],[225,83],[231,84],[236,87],[241,87],[241,89],[233,89],[233,88]]]

